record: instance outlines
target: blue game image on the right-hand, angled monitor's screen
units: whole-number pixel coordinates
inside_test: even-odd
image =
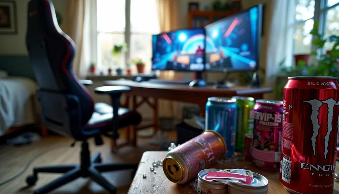
[[[261,35],[261,27],[258,27],[258,17],[261,17],[259,6],[206,25],[206,70],[257,69],[258,38]]]

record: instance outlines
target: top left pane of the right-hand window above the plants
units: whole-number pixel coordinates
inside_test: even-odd
[[[304,21],[314,16],[315,0],[295,0],[295,18],[297,21]]]

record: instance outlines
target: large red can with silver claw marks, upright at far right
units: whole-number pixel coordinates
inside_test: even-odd
[[[280,182],[292,193],[333,193],[338,77],[288,77],[284,87]]]

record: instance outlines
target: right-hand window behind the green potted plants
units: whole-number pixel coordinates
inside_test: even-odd
[[[287,17],[287,37],[292,37],[287,39],[287,61],[293,61],[295,54],[315,51],[309,34],[314,21],[319,21],[319,31],[325,37],[339,35],[339,0],[291,0]],[[332,46],[327,42],[323,52]]]

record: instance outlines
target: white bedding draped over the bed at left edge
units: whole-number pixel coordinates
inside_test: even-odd
[[[31,95],[37,89],[37,83],[25,77],[0,78],[0,135],[9,127],[36,122]]]

